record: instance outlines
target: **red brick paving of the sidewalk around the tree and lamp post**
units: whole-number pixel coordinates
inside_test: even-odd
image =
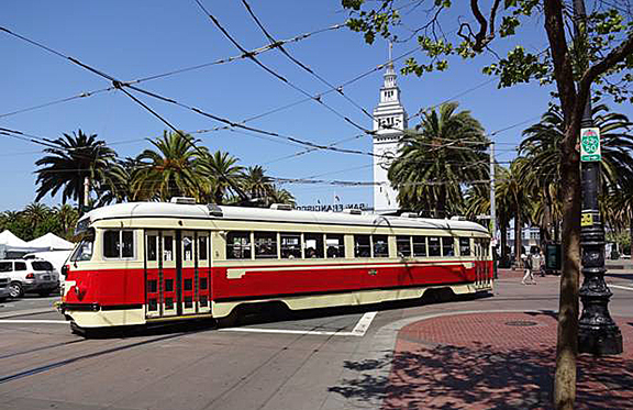
[[[633,408],[633,318],[613,319],[624,354],[580,356],[577,409]],[[548,409],[556,324],[548,311],[411,323],[398,333],[384,409]]]

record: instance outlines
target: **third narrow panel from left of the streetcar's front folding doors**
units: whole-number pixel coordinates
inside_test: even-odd
[[[196,254],[198,246],[196,243],[196,233],[193,231],[179,231],[178,232],[179,252],[178,252],[178,267],[179,280],[178,285],[181,289],[179,301],[179,314],[195,314],[196,313]]]

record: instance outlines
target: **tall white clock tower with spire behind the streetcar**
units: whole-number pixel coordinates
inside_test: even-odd
[[[389,64],[385,71],[385,84],[380,88],[380,102],[374,109],[374,182],[385,182],[374,186],[374,212],[393,211],[398,209],[398,192],[389,185],[387,170],[390,160],[396,157],[398,145],[407,129],[407,112],[400,103],[400,88],[396,84],[396,71],[391,63],[391,46],[389,46]],[[382,157],[381,157],[382,156]]]

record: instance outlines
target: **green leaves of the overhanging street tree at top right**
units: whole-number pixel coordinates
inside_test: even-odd
[[[489,5],[489,2],[475,2],[478,7]],[[486,3],[486,4],[484,4]],[[496,13],[488,11],[487,29],[491,29],[496,22],[490,21],[491,15],[497,15],[500,20],[497,33],[488,31],[478,33],[477,22],[465,23],[459,21],[459,31],[451,36],[447,31],[441,29],[438,16],[447,9],[456,7],[451,1],[435,0],[430,10],[426,11],[426,21],[401,21],[395,8],[393,0],[382,0],[376,5],[374,2],[360,0],[343,0],[342,4],[349,10],[351,19],[348,26],[360,32],[365,41],[374,43],[377,35],[385,38],[398,38],[398,30],[401,23],[407,26],[417,24],[423,34],[418,36],[418,44],[423,51],[424,60],[411,57],[406,60],[401,69],[403,75],[414,74],[422,76],[426,73],[443,71],[448,68],[451,56],[458,56],[464,59],[475,58],[488,52],[489,43],[496,38],[509,38],[519,33],[521,25],[525,24],[526,18],[541,14],[542,2],[538,0],[504,0],[501,10]],[[467,7],[466,2],[459,2],[460,7]],[[574,56],[574,71],[577,80],[591,64],[600,62],[604,56],[614,49],[623,38],[633,35],[633,20],[630,15],[623,14],[615,7],[608,3],[587,15],[586,24],[581,25],[581,36],[576,43],[568,44],[570,55]],[[573,25],[571,13],[565,14],[567,24]],[[497,20],[496,19],[496,20]],[[442,33],[442,34],[438,34]],[[541,53],[528,53],[521,45],[517,45],[513,40],[512,49],[506,56],[498,57],[492,64],[482,67],[485,75],[497,76],[499,88],[512,87],[517,84],[538,81],[541,85],[551,84],[554,76],[554,67],[551,54],[546,51]],[[623,62],[618,63],[596,80],[600,85],[599,96],[611,96],[615,102],[633,102],[633,93],[630,85],[633,84],[633,76],[628,70],[633,68],[633,55],[628,56]],[[609,79],[609,80],[607,80]]]

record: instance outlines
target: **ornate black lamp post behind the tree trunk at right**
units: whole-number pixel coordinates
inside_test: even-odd
[[[576,35],[578,24],[585,20],[585,2],[574,0]],[[582,22],[578,20],[581,19]],[[593,126],[591,96],[587,97],[581,128]],[[585,141],[581,141],[581,144]],[[580,225],[580,245],[582,247],[582,287],[579,295],[582,301],[582,314],[578,326],[578,352],[593,355],[614,355],[622,353],[622,333],[609,314],[611,291],[604,282],[604,226],[598,210],[598,184],[600,159],[581,163],[582,214]]]

